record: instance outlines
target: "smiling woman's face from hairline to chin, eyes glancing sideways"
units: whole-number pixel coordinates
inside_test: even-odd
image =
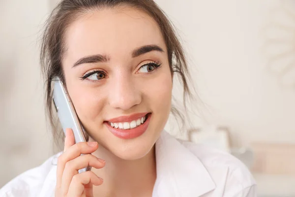
[[[65,33],[68,94],[86,131],[116,156],[145,156],[171,108],[172,75],[157,23],[132,9],[89,12]]]

